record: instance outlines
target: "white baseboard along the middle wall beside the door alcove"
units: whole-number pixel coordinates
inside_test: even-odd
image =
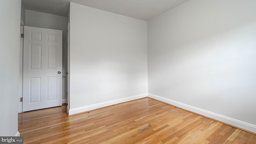
[[[145,98],[147,96],[148,96],[147,93],[146,94],[139,94],[139,95],[136,95],[136,96],[129,96],[129,97],[126,97],[126,98],[110,100],[110,101],[107,101],[107,102],[100,102],[100,103],[97,103],[97,104],[91,104],[91,105],[83,106],[83,107],[79,107],[79,108],[71,108],[69,110],[68,114],[69,115],[78,114],[78,113],[81,113],[81,112],[95,110],[97,108],[102,108],[102,107],[105,107],[105,106],[111,106],[113,104],[119,104],[119,103],[127,102],[127,101],[130,101],[130,100],[136,100],[138,98]]]

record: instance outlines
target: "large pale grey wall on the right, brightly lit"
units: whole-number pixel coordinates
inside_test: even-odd
[[[148,21],[148,92],[255,126],[255,8],[190,0]]]

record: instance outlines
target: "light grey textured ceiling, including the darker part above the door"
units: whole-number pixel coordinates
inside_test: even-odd
[[[148,21],[188,0],[22,0],[26,10],[68,16],[69,2]]]

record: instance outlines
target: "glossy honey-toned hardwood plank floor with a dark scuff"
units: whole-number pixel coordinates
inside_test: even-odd
[[[143,98],[68,117],[67,106],[20,113],[24,144],[256,144],[256,135]]]

